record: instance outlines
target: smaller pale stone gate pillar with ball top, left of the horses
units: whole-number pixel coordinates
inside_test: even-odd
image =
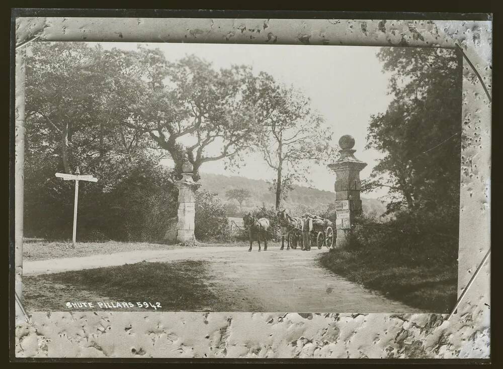
[[[176,183],[178,188],[178,223],[177,241],[185,244],[194,244],[194,219],[196,204],[194,191],[200,186],[192,177],[192,164],[184,163],[182,179]]]

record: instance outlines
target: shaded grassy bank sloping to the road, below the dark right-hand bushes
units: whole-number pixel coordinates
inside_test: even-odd
[[[435,255],[410,260],[376,248],[331,249],[319,262],[334,273],[386,297],[432,313],[449,313],[457,297],[457,264]]]

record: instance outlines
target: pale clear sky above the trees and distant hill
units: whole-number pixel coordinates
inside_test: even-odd
[[[135,50],[137,47],[137,43],[100,44],[106,49]],[[142,45],[159,48],[170,61],[195,54],[212,62],[216,69],[246,64],[253,67],[254,73],[268,72],[276,80],[302,90],[311,99],[312,108],[321,113],[333,129],[333,144],[336,145],[342,135],[349,134],[355,138],[355,156],[368,163],[360,173],[362,179],[369,176],[376,160],[382,157],[375,150],[365,149],[371,115],[385,112],[392,100],[387,95],[390,74],[382,72],[382,65],[376,57],[378,47],[196,43]],[[169,159],[165,159],[163,164],[173,165]],[[224,164],[223,160],[207,162],[201,167],[201,172],[265,180],[275,177],[260,154],[248,155],[238,170],[225,169]],[[336,175],[326,165],[313,164],[309,170],[310,187],[334,191]],[[385,190],[379,190],[364,197],[378,198],[385,193]]]

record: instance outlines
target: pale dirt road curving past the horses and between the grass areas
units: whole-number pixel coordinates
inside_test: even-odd
[[[194,247],[119,252],[24,263],[24,275],[54,273],[146,261],[206,260],[208,285],[232,311],[412,313],[421,310],[346,281],[318,264],[326,249],[247,252],[243,247]],[[227,305],[227,304],[226,304]],[[208,310],[212,310],[208,307]]]

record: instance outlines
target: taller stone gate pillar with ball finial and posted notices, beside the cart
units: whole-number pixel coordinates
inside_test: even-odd
[[[336,172],[336,247],[344,247],[351,234],[351,224],[355,216],[362,211],[360,171],[367,163],[353,155],[356,150],[353,150],[355,139],[352,136],[342,136],[339,146],[341,157],[328,167]]]

